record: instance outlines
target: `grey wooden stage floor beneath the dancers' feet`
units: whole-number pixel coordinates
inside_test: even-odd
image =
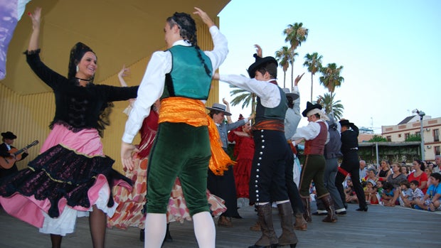
[[[312,204],[314,205],[314,203]],[[357,205],[350,204],[346,216],[331,224],[322,222],[323,216],[313,216],[307,231],[296,231],[297,247],[441,247],[441,212],[427,212],[402,207],[369,205],[368,212],[357,212]],[[260,232],[250,231],[255,223],[254,207],[239,210],[243,219],[233,219],[233,227],[216,226],[216,247],[246,248],[260,237]],[[277,234],[280,221],[277,208],[273,209]],[[215,219],[217,221],[217,219]],[[192,222],[170,224],[173,242],[165,242],[164,248],[197,247]],[[0,210],[1,248],[51,247],[49,235],[40,234],[38,229],[11,217]],[[87,218],[78,219],[76,230],[63,239],[62,247],[92,247]],[[139,230],[107,230],[106,247],[144,247],[139,242]]]

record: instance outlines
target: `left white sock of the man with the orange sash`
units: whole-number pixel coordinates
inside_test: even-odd
[[[161,248],[167,229],[166,214],[147,213],[144,228],[144,248]]]

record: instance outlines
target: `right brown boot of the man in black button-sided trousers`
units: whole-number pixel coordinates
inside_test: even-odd
[[[297,236],[292,226],[292,208],[289,202],[277,204],[280,215],[280,225],[282,227],[282,235],[279,237],[279,245],[289,244],[294,248],[298,242]]]

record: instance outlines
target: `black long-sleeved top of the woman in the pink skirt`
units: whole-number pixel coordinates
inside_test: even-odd
[[[81,129],[102,130],[110,124],[109,108],[114,101],[137,97],[138,86],[115,87],[89,83],[86,87],[75,78],[68,79],[48,68],[40,59],[40,50],[27,52],[26,60],[33,72],[52,88],[55,94],[55,117],[51,123],[63,124],[76,132]]]

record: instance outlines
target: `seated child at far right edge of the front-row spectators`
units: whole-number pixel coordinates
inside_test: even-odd
[[[435,211],[441,210],[440,207],[440,198],[441,198],[441,174],[440,173],[432,173],[430,174],[432,185],[427,189],[427,193],[424,195],[424,198],[421,200],[415,201],[415,208],[420,208],[423,210]]]

